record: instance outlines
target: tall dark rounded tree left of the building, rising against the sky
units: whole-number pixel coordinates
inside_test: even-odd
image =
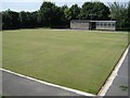
[[[64,11],[52,2],[43,2],[38,12],[40,26],[60,27],[64,23]]]

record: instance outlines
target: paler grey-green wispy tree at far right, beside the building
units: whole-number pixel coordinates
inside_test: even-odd
[[[129,17],[128,11],[129,5],[128,3],[108,3],[110,9],[110,17],[112,20],[117,21],[117,29],[128,29],[129,27]]]

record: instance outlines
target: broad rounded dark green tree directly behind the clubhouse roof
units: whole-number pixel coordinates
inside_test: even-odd
[[[83,20],[109,20],[109,9],[102,2],[84,2],[81,9]]]

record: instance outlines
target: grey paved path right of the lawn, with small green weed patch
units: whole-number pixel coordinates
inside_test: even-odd
[[[118,75],[106,93],[106,96],[128,96],[128,62],[130,63],[130,51],[126,57]],[[130,79],[129,79],[130,81]]]

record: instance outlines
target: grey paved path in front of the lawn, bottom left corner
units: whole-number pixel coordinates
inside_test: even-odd
[[[2,72],[2,77],[3,96],[79,96],[75,93],[47,86],[4,71]]]

